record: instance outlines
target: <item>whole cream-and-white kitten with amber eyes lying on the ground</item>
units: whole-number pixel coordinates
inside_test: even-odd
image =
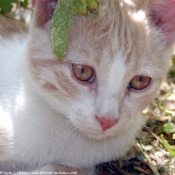
[[[98,1],[94,19],[75,15],[60,61],[57,0],[33,1],[29,32],[0,17],[1,171],[93,174],[134,144],[170,66],[175,1]]]

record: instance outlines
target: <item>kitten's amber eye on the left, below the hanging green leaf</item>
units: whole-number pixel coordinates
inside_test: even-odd
[[[93,70],[89,66],[72,64],[75,77],[80,81],[93,82]]]

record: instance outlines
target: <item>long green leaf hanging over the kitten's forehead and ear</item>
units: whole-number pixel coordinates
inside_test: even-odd
[[[96,4],[95,4],[96,2]],[[96,0],[59,0],[51,24],[53,52],[61,60],[68,47],[68,29],[75,21],[75,14],[86,14],[87,7],[97,8]]]

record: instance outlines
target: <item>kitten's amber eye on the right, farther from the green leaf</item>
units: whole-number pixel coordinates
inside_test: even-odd
[[[129,88],[135,90],[145,89],[151,82],[151,78],[144,75],[137,75],[129,82]]]

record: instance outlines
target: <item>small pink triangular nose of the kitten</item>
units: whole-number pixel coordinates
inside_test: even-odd
[[[118,122],[117,119],[111,120],[111,119],[107,119],[104,117],[98,117],[98,116],[96,116],[96,118],[100,122],[100,125],[101,125],[101,128],[103,129],[103,131],[111,128],[113,125],[115,125]]]

